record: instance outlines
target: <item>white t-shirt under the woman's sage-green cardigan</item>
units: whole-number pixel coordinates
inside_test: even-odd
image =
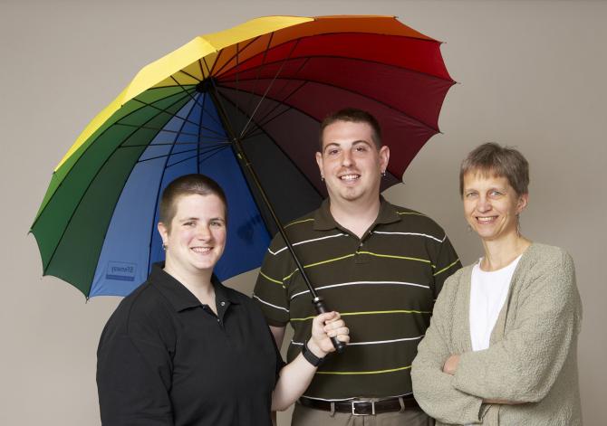
[[[491,332],[506,302],[510,281],[521,256],[501,270],[481,270],[482,258],[474,265],[470,289],[470,340],[473,351],[489,347]]]

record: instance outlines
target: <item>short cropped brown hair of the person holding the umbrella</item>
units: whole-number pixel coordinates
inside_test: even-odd
[[[170,230],[170,222],[173,221],[177,213],[176,201],[182,195],[217,195],[224,204],[227,222],[227,201],[226,194],[221,186],[213,179],[206,175],[183,175],[172,181],[160,197],[159,206],[159,222],[164,223],[165,227]]]

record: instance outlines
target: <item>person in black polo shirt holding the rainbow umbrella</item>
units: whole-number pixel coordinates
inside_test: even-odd
[[[103,330],[97,384],[104,425],[270,425],[307,388],[331,336],[348,342],[337,313],[313,320],[304,354],[284,365],[253,301],[224,287],[213,267],[226,243],[226,196],[204,175],[162,194],[166,263],[124,298]]]

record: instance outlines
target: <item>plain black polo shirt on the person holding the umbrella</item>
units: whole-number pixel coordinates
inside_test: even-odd
[[[103,425],[272,424],[274,339],[250,298],[213,285],[217,316],[159,264],[120,302],[97,351]]]

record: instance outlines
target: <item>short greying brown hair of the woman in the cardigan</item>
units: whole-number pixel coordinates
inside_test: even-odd
[[[488,142],[470,151],[459,168],[459,194],[462,196],[464,175],[469,172],[506,177],[516,195],[529,193],[529,163],[513,147],[501,147],[495,142]]]

